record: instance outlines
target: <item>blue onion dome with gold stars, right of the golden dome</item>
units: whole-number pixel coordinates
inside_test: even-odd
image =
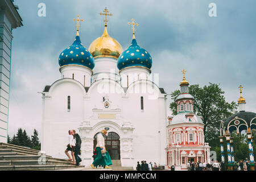
[[[144,67],[150,69],[152,67],[152,58],[150,53],[141,48],[134,38],[129,48],[123,51],[117,61],[119,70],[129,67]]]

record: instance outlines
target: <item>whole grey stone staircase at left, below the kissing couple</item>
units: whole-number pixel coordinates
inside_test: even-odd
[[[40,151],[14,144],[0,143],[0,171],[57,170],[80,168],[66,159],[42,155]]]

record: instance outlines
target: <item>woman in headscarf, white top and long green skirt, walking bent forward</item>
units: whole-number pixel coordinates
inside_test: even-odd
[[[92,168],[95,168],[94,166],[103,166],[104,168],[110,168],[109,166],[112,165],[109,152],[106,151],[106,148],[105,148],[105,139],[103,135],[106,135],[106,134],[107,134],[106,130],[101,130],[101,132],[96,135],[96,138],[97,138],[96,158],[94,159],[93,163],[90,165]]]

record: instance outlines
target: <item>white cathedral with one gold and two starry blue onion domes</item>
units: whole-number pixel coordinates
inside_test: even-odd
[[[76,20],[75,41],[59,56],[61,77],[43,90],[42,151],[64,158],[68,130],[75,129],[82,139],[81,164],[89,166],[94,137],[107,129],[106,150],[122,166],[141,160],[165,166],[167,94],[152,81],[152,58],[134,35],[138,24],[132,19],[133,39],[123,51],[109,36],[105,19],[102,36],[87,50]]]

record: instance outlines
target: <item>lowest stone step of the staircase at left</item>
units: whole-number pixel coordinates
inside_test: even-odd
[[[0,166],[0,171],[38,171],[57,170],[68,168],[82,168],[84,166],[74,165],[30,165],[30,166]]]

